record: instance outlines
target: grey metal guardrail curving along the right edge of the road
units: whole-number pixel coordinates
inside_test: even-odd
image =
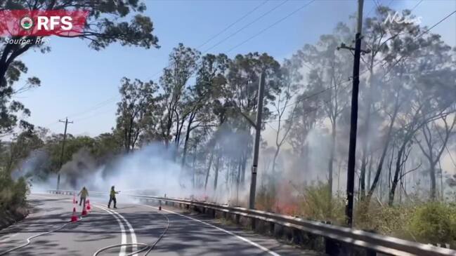
[[[48,190],[48,192],[51,194],[67,195],[78,193],[77,191],[70,190]],[[91,192],[91,194],[108,195],[108,192]],[[271,224],[278,224],[283,227],[289,227],[292,229],[305,231],[309,234],[313,234],[316,236],[322,236],[325,238],[326,243],[334,243],[334,241],[338,241],[348,245],[356,245],[359,248],[366,249],[369,255],[375,255],[376,252],[380,252],[386,255],[456,256],[456,250],[450,250],[446,248],[440,248],[434,245],[426,245],[423,243],[406,241],[400,238],[383,236],[368,231],[350,229],[348,227],[339,227],[332,224],[324,224],[321,222],[304,220],[299,217],[280,215],[276,213],[268,213],[262,210],[250,210],[247,208],[229,207],[219,205],[216,203],[207,203],[183,198],[168,198],[160,196],[145,196],[134,194],[124,194],[124,196],[130,196],[132,198],[139,198],[148,201],[153,200],[164,201],[166,203],[173,204],[178,203],[181,206],[185,205],[188,208],[190,208],[190,206],[193,206],[194,208],[201,208],[203,213],[207,213],[209,212],[209,210],[211,210],[212,214],[214,215],[216,212],[221,212],[225,214],[234,215],[236,218],[243,216],[250,218],[252,220],[252,223],[254,223],[256,220],[260,220]]]

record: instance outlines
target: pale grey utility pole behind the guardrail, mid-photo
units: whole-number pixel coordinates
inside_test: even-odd
[[[263,116],[263,97],[264,97],[264,72],[261,72],[260,82],[258,88],[258,105],[256,107],[256,123],[254,123],[255,133],[255,144],[254,144],[254,161],[252,164],[252,178],[250,180],[250,198],[249,208],[255,208],[255,193],[256,193],[256,170],[258,169],[258,155],[260,149],[260,137],[261,137],[261,118]],[[252,124],[253,125],[253,124]]]

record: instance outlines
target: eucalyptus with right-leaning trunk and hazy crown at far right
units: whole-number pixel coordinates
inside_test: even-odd
[[[399,114],[398,153],[393,180],[389,191],[389,204],[392,205],[396,187],[400,179],[400,169],[404,163],[404,153],[414,142],[417,132],[432,121],[441,119],[455,112],[456,95],[448,93],[454,90],[455,68],[451,67],[451,48],[436,34],[424,37],[406,37],[402,47],[398,47],[398,56],[407,58],[407,62],[398,64],[403,88],[409,89],[408,102]],[[395,62],[396,63],[396,62]],[[452,123],[452,122],[450,122]],[[452,129],[450,125],[447,129]],[[426,133],[429,135],[429,133]],[[426,136],[423,134],[423,136]],[[439,156],[440,157],[440,156]],[[431,167],[431,166],[429,166]],[[431,178],[431,198],[435,197],[435,169],[429,171]],[[434,194],[434,195],[433,195]]]

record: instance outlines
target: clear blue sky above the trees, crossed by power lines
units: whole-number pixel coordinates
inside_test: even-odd
[[[96,51],[88,48],[86,41],[53,36],[49,40],[52,48],[50,53],[30,51],[22,55],[21,60],[29,68],[28,75],[38,76],[42,86],[18,95],[15,100],[20,100],[31,110],[32,116],[28,121],[45,126],[52,132],[63,132],[63,123],[58,123],[58,119],[65,119],[65,116],[74,121],[68,127],[68,132],[74,135],[94,136],[109,132],[115,124],[116,102],[119,100],[117,90],[123,76],[157,81],[159,75],[154,74],[166,67],[168,54],[178,43],[197,48],[249,13],[245,19],[198,48],[204,53],[222,41],[209,53],[226,53],[308,2],[290,0],[282,4],[282,0],[270,0],[252,12],[263,1],[146,1],[148,10],[145,15],[154,22],[155,35],[161,46],[159,49],[111,45]],[[391,2],[377,1],[382,4]],[[403,9],[412,8],[417,3],[415,0],[394,0],[389,6]],[[271,13],[226,39],[278,5]],[[365,14],[373,6],[372,0],[365,0]],[[337,22],[351,22],[348,17],[356,13],[356,8],[355,0],[316,0],[231,50],[228,55],[258,51],[269,53],[281,61],[305,43],[315,43],[321,34],[332,32]],[[415,14],[422,16],[424,25],[434,25],[455,10],[456,0],[424,0],[415,9]],[[435,27],[432,32],[442,34],[448,44],[456,46],[456,15]]]

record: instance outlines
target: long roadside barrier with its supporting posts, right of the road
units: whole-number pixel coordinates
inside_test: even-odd
[[[76,191],[70,190],[48,190],[51,194],[72,195]],[[92,194],[105,195],[107,193],[91,192]],[[275,234],[278,231],[287,229],[291,234],[291,240],[300,243],[304,237],[318,236],[323,238],[324,250],[329,255],[344,255],[346,248],[360,248],[365,255],[426,255],[426,256],[456,256],[456,250],[440,248],[434,245],[426,245],[412,241],[403,240],[391,236],[383,236],[372,232],[339,227],[333,224],[304,220],[299,217],[268,213],[262,210],[250,210],[241,207],[229,207],[206,201],[196,201],[184,198],[169,198],[160,196],[145,196],[124,194],[141,201],[164,202],[165,205],[176,206],[195,210],[200,213],[221,216],[234,220],[240,224],[241,219],[247,222],[252,229],[267,227],[269,233]],[[349,249],[351,250],[351,249]]]

